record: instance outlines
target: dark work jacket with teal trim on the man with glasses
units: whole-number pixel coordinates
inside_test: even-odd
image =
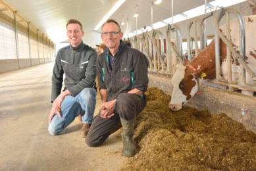
[[[107,52],[101,53],[97,59],[99,89],[107,89],[108,101],[133,88],[142,92],[147,91],[149,62],[145,55],[137,49],[124,45],[115,56],[112,70],[109,68]]]

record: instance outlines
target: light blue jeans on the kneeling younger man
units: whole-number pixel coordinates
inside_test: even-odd
[[[93,122],[95,104],[96,90],[94,88],[84,88],[75,97],[72,97],[71,95],[66,96],[61,104],[62,118],[59,118],[58,114],[53,116],[48,127],[49,134],[59,134],[74,121],[76,116],[82,114],[83,110],[86,112],[84,116],[82,116],[82,122],[84,124],[91,124]]]

